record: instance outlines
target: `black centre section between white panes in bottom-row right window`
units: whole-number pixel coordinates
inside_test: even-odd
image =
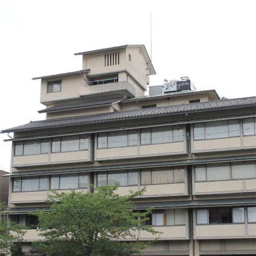
[[[210,208],[209,223],[210,224],[225,224],[232,223],[232,209],[231,208]]]

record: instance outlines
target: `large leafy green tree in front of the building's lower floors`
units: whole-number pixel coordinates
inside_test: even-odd
[[[44,241],[34,245],[49,256],[104,256],[139,254],[148,243],[136,238],[137,230],[156,234],[150,226],[145,212],[134,211],[132,200],[142,195],[130,192],[128,196],[115,193],[117,185],[96,189],[96,193],[54,193],[50,197],[49,212],[39,211],[39,235]]]

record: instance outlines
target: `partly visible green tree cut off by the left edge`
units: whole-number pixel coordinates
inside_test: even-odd
[[[0,202],[0,255],[10,255],[12,249],[16,249],[17,242],[22,241],[25,233],[24,227],[15,224],[3,215],[5,206]]]

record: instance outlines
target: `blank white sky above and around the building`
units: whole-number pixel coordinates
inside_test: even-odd
[[[37,111],[40,80],[81,69],[73,53],[145,44],[157,75],[188,76],[197,89],[228,98],[255,96],[256,1],[0,2],[0,130],[44,119]],[[0,169],[10,170],[11,143],[0,134]]]

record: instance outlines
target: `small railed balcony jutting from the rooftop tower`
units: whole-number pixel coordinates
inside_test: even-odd
[[[127,81],[126,77],[112,77],[108,79],[93,80],[80,86],[80,97],[96,98],[100,94],[104,97],[134,97],[135,88]]]

